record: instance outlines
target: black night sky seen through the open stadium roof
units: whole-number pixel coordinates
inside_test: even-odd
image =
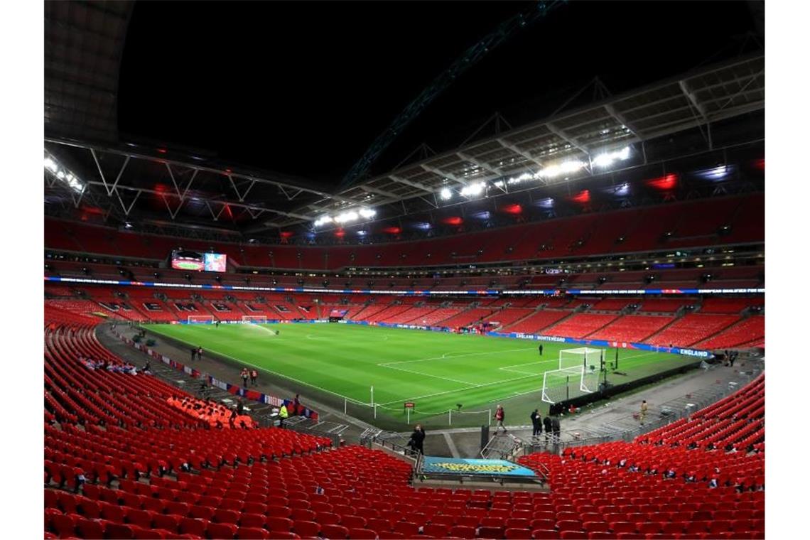
[[[428,83],[525,6],[136,2],[119,130],[338,184]],[[374,171],[421,142],[450,149],[495,111],[513,125],[542,118],[597,75],[619,93],[735,56],[756,29],[749,2],[569,2],[468,70]]]

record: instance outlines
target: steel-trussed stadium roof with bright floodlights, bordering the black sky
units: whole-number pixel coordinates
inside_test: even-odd
[[[126,21],[125,11],[90,19],[109,16]],[[87,62],[96,58],[87,55]],[[109,70],[102,73],[109,75]],[[46,100],[58,93],[46,91]],[[700,130],[711,149],[714,123],[765,108],[765,57],[736,58],[514,128],[497,117],[499,130],[501,123],[506,130],[476,139],[483,132],[479,130],[471,136],[475,140],[452,151],[423,155],[415,163],[337,192],[315,181],[224,164],[205,155],[87,142],[104,140],[114,122],[112,113],[104,116],[109,108],[91,94],[84,102],[69,100],[59,121],[54,116],[49,122],[46,101],[46,126],[51,125],[46,130],[46,159],[58,164],[45,172],[46,203],[95,209],[121,221],[183,223],[253,234],[309,225],[324,215],[360,208],[377,210],[381,217],[438,208],[445,203],[442,189],[450,190],[458,202],[475,198],[459,194],[468,185],[483,183],[486,192],[509,193],[587,177],[597,172],[594,161],[600,154],[627,146],[637,156],[636,164],[643,164],[645,142],[685,130]],[[78,121],[74,130],[58,128],[84,110],[89,113],[83,118],[90,121]],[[311,159],[319,159],[318,148],[311,149]],[[559,176],[544,174],[570,162],[582,167]],[[58,178],[62,170],[78,181],[70,185]],[[531,176],[531,181],[508,181],[520,175]]]

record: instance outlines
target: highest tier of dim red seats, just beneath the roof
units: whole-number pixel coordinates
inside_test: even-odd
[[[753,193],[523,223],[432,240],[324,247],[226,244],[119,232],[48,218],[45,246],[153,260],[162,260],[180,247],[212,249],[226,253],[229,261],[239,266],[339,270],[347,266],[458,265],[761,242],[764,223],[764,196]],[[719,236],[719,227],[726,224],[731,225],[731,234]],[[667,239],[666,232],[673,234]],[[620,237],[625,240],[618,241]]]

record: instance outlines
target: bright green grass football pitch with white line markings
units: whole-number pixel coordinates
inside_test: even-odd
[[[291,396],[301,393],[303,402],[309,395],[335,408],[345,407],[348,414],[362,419],[372,414],[373,387],[377,420],[382,415],[401,422],[406,418],[404,403],[413,402],[416,408],[411,412],[411,423],[435,417],[444,425],[450,418],[454,425],[487,423],[489,411],[498,403],[505,408],[511,404],[521,411],[526,409],[525,415],[521,412],[511,420],[527,423],[523,417],[528,418],[535,407],[548,410],[548,404],[540,400],[543,375],[558,368],[559,351],[582,347],[543,342],[540,356],[539,342],[535,341],[366,325],[145,327],[232,361],[234,374],[229,381],[234,384],[239,382],[241,367],[256,368],[262,373],[260,380],[270,378],[290,389]],[[608,364],[615,358],[615,350],[605,350]],[[621,384],[695,361],[680,355],[624,349],[619,352],[616,373],[608,370],[608,381]],[[599,365],[595,368],[598,370]],[[579,376],[570,378],[569,383],[561,384],[569,386],[571,398],[581,395]],[[557,395],[564,397],[565,389]]]

